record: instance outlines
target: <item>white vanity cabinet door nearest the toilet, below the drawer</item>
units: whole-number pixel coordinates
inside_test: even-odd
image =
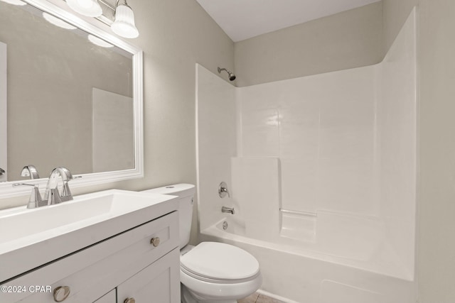
[[[118,303],[180,303],[180,251],[175,248],[117,287]]]

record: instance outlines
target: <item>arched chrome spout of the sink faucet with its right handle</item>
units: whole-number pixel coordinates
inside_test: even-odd
[[[62,178],[63,189],[62,194],[58,192],[58,176]],[[50,172],[48,184],[45,187],[44,200],[50,204],[59,204],[61,202],[73,200],[68,182],[73,180],[73,175],[70,170],[65,167],[55,167]]]

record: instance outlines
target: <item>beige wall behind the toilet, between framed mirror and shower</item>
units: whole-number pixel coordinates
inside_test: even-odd
[[[194,0],[130,0],[144,50],[143,179],[73,189],[148,189],[165,184],[196,184],[196,62],[216,72],[233,70],[234,44]],[[28,197],[0,200],[26,204]],[[196,209],[195,209],[196,214]],[[193,220],[195,241],[196,219]]]

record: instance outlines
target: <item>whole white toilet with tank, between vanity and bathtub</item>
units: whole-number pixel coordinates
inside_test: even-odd
[[[193,184],[174,184],[144,190],[178,196],[180,280],[182,303],[237,303],[262,283],[259,263],[245,250],[226,243],[202,242],[190,246]]]

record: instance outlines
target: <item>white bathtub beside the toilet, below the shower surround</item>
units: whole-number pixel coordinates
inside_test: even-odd
[[[254,255],[264,278],[261,290],[284,302],[415,302],[413,279],[382,235],[380,221],[323,212],[317,220],[312,236],[292,238],[285,230],[255,234],[248,221],[229,215],[200,237]]]

